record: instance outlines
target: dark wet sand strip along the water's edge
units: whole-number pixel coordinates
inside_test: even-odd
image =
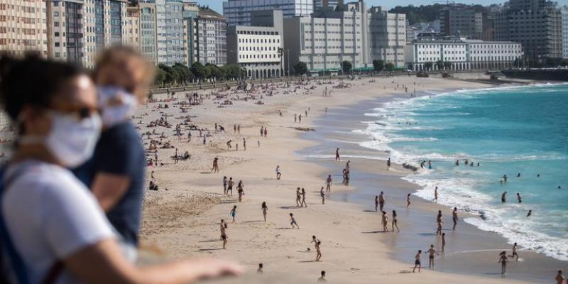
[[[505,87],[522,87],[522,86],[505,86]],[[488,89],[494,89],[495,87],[490,87]],[[498,88],[498,87],[497,87]],[[481,88],[484,89],[484,88]],[[448,93],[448,92],[455,92],[461,89],[447,89],[444,90],[444,92],[439,92],[439,94],[443,94],[443,93]],[[428,95],[428,94],[425,94]],[[418,96],[420,97],[420,96]],[[392,99],[385,99],[385,98],[381,98],[379,99],[380,102],[376,102],[376,100],[371,99],[368,102],[359,102],[357,104],[351,104],[349,107],[347,107],[346,109],[342,109],[339,112],[342,112],[341,114],[338,114],[337,116],[340,116],[342,118],[346,117],[346,113],[355,113],[355,114],[361,114],[361,113],[365,113],[370,109],[376,108],[376,107],[381,107],[383,104],[385,104],[386,102],[391,102]],[[372,105],[369,106],[369,105]],[[327,121],[327,119],[331,120],[331,121]],[[368,141],[368,139],[370,139],[367,136],[363,136],[359,133],[345,133],[345,131],[343,131],[344,129],[351,129],[353,131],[356,131],[357,129],[359,129],[358,127],[361,126],[361,121],[365,121],[366,120],[366,116],[361,115],[361,116],[355,116],[354,118],[351,118],[351,125],[350,126],[339,126],[340,127],[340,131],[338,132],[342,132],[342,135],[337,135],[339,136],[339,138],[337,136],[334,136],[333,133],[324,133],[321,134],[320,133],[320,137],[315,138],[313,135],[307,137],[307,135],[302,136],[302,138],[307,138],[307,139],[312,139],[314,141],[318,141],[318,143],[320,143],[319,146],[324,145],[325,143],[323,141],[325,141],[326,138],[329,138],[329,136],[331,136],[333,138],[333,141],[337,144],[340,143],[340,148],[342,145],[344,145],[344,147],[347,147],[348,151],[354,151],[359,155],[348,155],[348,158],[354,162],[354,164],[358,163],[359,160],[364,159],[364,160],[368,160],[368,164],[373,164],[374,167],[385,167],[386,165],[386,157],[388,157],[388,153],[383,153],[381,151],[377,151],[376,149],[371,149],[371,148],[366,148],[364,146],[359,145],[359,143],[361,142],[365,142]],[[319,127],[317,127],[318,129],[323,128],[325,129],[327,126],[329,125],[333,125],[334,124],[334,118],[332,117],[326,117],[326,119],[318,119],[317,121],[315,121],[315,124],[320,124],[318,125]],[[363,124],[364,127],[366,127],[366,124]],[[343,133],[345,133],[343,135]],[[344,137],[346,136],[346,137]],[[353,141],[346,141],[347,138],[353,138]],[[360,137],[365,137],[362,139],[359,139]],[[355,141],[355,142],[354,142]],[[353,146],[351,146],[353,145]],[[336,145],[337,146],[337,145]],[[317,151],[317,147],[312,147],[310,149],[304,149],[301,152],[310,152],[314,149],[316,149]],[[367,155],[364,157],[364,155],[361,155],[360,152],[367,152]],[[378,157],[377,157],[378,156]],[[330,157],[333,158],[333,157]],[[327,167],[333,168],[334,165],[332,163],[329,163],[328,160],[325,160],[324,158],[308,158],[309,160],[312,160],[314,163],[320,163],[320,164],[324,164]],[[347,158],[346,158],[347,159]],[[408,161],[407,161],[408,162]],[[400,167],[400,165],[399,165]],[[337,168],[337,167],[335,167]],[[388,189],[388,190],[393,190],[395,192],[398,192],[398,196],[395,195],[395,207],[394,209],[397,210],[397,212],[399,212],[399,216],[404,216],[404,217],[408,217],[410,219],[413,219],[411,221],[409,221],[408,223],[410,223],[410,234],[416,234],[418,235],[417,238],[401,238],[400,236],[393,236],[393,238],[386,240],[386,242],[390,242],[391,245],[395,246],[395,248],[393,249],[393,251],[391,252],[391,256],[393,256],[393,258],[395,258],[398,261],[407,261],[410,262],[409,257],[411,256],[411,253],[413,253],[413,251],[416,251],[417,249],[426,249],[427,248],[427,241],[425,239],[432,239],[432,244],[435,244],[436,248],[439,249],[439,244],[440,244],[440,239],[439,236],[436,236],[434,234],[435,231],[435,214],[437,212],[438,209],[441,209],[445,216],[450,215],[451,216],[451,207],[444,205],[444,204],[438,204],[435,202],[432,202],[430,200],[425,200],[422,198],[416,198],[417,196],[414,195],[415,192],[417,192],[418,189],[421,189],[422,187],[420,187],[420,185],[417,185],[413,182],[410,181],[406,181],[403,180],[404,177],[413,175],[412,172],[410,171],[405,171],[405,173],[403,175],[400,175],[400,173],[373,173],[372,170],[368,170],[367,168],[363,168],[363,169],[359,169],[359,170],[363,170],[367,175],[369,175],[368,177],[365,177],[365,175],[361,175],[363,176],[363,178],[366,179],[373,179],[373,180],[392,180],[393,178],[395,179],[399,179],[399,182],[388,182],[387,185],[383,185],[381,188],[381,190],[383,188]],[[337,171],[337,169],[336,169]],[[354,178],[355,180],[359,180],[359,178]],[[358,184],[359,183],[359,184]],[[343,201],[343,202],[352,202],[352,203],[356,203],[356,204],[361,204],[361,206],[363,206],[364,208],[367,209],[372,209],[373,207],[373,197],[372,195],[369,196],[369,192],[373,191],[370,190],[371,187],[373,187],[373,185],[371,185],[369,182],[352,182],[352,185],[354,185],[354,190],[351,190],[349,192],[342,192],[342,196],[339,198],[335,198],[334,200],[338,200],[338,201]],[[404,194],[400,195],[400,191],[401,190],[405,190],[408,193],[413,194],[413,205],[411,206],[410,210],[415,210],[416,212],[413,212],[413,214],[405,214],[404,210],[405,210],[405,197]],[[375,194],[378,195],[378,191],[376,190]],[[354,195],[354,197],[349,197],[349,195]],[[359,195],[359,196],[358,196]],[[388,193],[387,193],[388,196]],[[393,197],[391,197],[391,200],[393,199]],[[419,204],[416,204],[419,203]],[[418,205],[418,208],[416,208],[415,206]],[[391,207],[391,209],[393,209]],[[399,211],[400,210],[400,211]],[[408,209],[407,209],[408,210]],[[372,210],[364,210],[366,212],[370,212]],[[388,212],[388,210],[386,209],[386,211]],[[400,212],[403,212],[403,214],[401,214]],[[408,212],[407,212],[408,213]],[[390,214],[390,212],[389,212]],[[430,219],[428,220],[428,218],[421,218],[421,214],[430,214]],[[444,253],[444,256],[442,256],[442,258],[438,261],[437,264],[437,269],[439,269],[439,271],[452,271],[454,273],[463,273],[463,274],[467,274],[467,275],[485,275],[488,277],[491,277],[494,275],[491,272],[491,270],[494,270],[493,268],[493,263],[486,263],[486,259],[489,258],[495,258],[494,256],[497,255],[498,251],[510,251],[510,247],[512,246],[511,244],[508,243],[508,240],[504,237],[501,236],[499,234],[496,234],[492,231],[484,231],[479,229],[478,227],[474,226],[473,224],[469,224],[467,222],[464,222],[465,218],[469,218],[469,217],[473,217],[473,218],[479,218],[480,216],[478,214],[472,214],[469,212],[460,212],[459,213],[459,217],[460,217],[460,221],[458,224],[458,230],[459,234],[463,234],[464,236],[461,236],[459,240],[449,240],[448,239],[448,246],[452,246],[452,248],[448,247],[446,252]],[[380,215],[378,215],[380,216]],[[377,217],[380,218],[380,217]],[[425,220],[426,219],[426,220]],[[430,226],[424,226],[421,225],[421,222],[431,222]],[[399,220],[400,222],[400,220]],[[450,221],[447,221],[450,222]],[[448,224],[446,224],[446,226],[448,226]],[[451,224],[450,224],[451,226]],[[444,229],[444,231],[446,231]],[[430,233],[431,232],[431,233]],[[453,237],[452,234],[456,234],[456,232],[449,230],[446,231],[447,234],[449,235],[449,238]],[[409,234],[408,231],[405,232],[405,234]],[[481,238],[479,240],[476,240],[478,238]],[[532,265],[524,265],[523,263],[523,267],[521,268],[513,268],[513,265],[511,265],[511,267],[509,268],[510,271],[512,271],[511,273],[508,273],[508,278],[512,278],[512,279],[518,279],[518,280],[532,280],[538,283],[547,283],[550,279],[551,274],[555,273],[555,268],[560,268],[562,266],[566,266],[566,262],[565,261],[559,261],[555,258],[552,258],[550,256],[545,256],[542,253],[537,253],[536,251],[532,251],[532,250],[519,250],[520,255],[522,256],[520,258],[520,261],[523,262],[530,262],[530,263],[540,263],[541,266],[538,266],[536,269],[532,266]],[[456,264],[459,263],[459,264]],[[545,265],[544,265],[545,264]],[[542,269],[542,267],[549,267],[551,269]],[[492,269],[493,268],[493,269]],[[495,275],[500,275],[500,273],[495,273]]]

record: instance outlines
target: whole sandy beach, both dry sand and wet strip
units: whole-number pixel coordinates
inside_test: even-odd
[[[229,258],[247,268],[248,275],[244,278],[223,283],[314,283],[322,270],[327,271],[329,283],[550,283],[556,269],[562,268],[557,266],[566,266],[537,253],[523,252],[524,262],[512,263],[508,275],[502,276],[496,262],[498,253],[493,250],[510,249],[510,245],[496,234],[460,222],[459,229],[448,236],[448,255],[436,258],[442,261],[442,271],[423,267],[421,273],[412,273],[417,249],[425,251],[429,241],[436,248],[439,246],[433,234],[435,212],[443,209],[447,212],[444,214],[449,214],[449,209],[417,197],[413,197],[410,209],[405,209],[405,195],[417,185],[400,177],[410,171],[400,165],[393,165],[387,171],[386,153],[364,151],[354,143],[356,138],[342,132],[352,129],[365,107],[395,97],[410,99],[414,89],[423,94],[491,85],[406,76],[345,80],[344,84],[350,85],[346,88],[335,88],[338,80],[320,83],[312,81],[303,86],[294,83],[289,88],[284,83],[274,83],[273,89],[256,86],[249,96],[243,91],[235,92],[234,88],[223,92],[202,91],[202,104],[187,105],[184,111],[179,103],[187,102],[185,93],[171,97],[155,94],[153,99],[169,101],[148,102],[134,121],[142,133],[155,131],[151,138],[161,140],[162,145],[169,141],[173,148],[160,148],[158,160],[163,165],[148,167],[148,182],[153,176],[159,190],[146,191],[141,231],[145,250],[158,251],[167,258]],[[408,92],[403,86],[408,87]],[[325,88],[329,97],[323,96]],[[268,96],[270,92],[272,96]],[[232,104],[220,107],[226,100]],[[168,108],[158,108],[164,104]],[[295,123],[295,114],[302,114],[301,124]],[[167,116],[172,127],[148,127],[150,121],[161,116]],[[190,142],[189,125],[181,125],[182,134],[179,138],[175,136],[175,125],[188,119],[188,124],[202,129],[192,130]],[[216,132],[215,124],[222,125],[226,132]],[[234,125],[240,125],[240,133],[234,133]],[[267,128],[267,137],[260,136],[261,126]],[[200,132],[210,135],[205,143]],[[159,138],[161,133],[165,138]],[[146,147],[147,137],[143,136]],[[232,149],[227,149],[229,140]],[[191,158],[175,163],[170,158],[175,148],[179,155],[187,151]],[[340,148],[344,155],[341,161],[334,161],[335,148]],[[358,158],[370,155],[376,158]],[[219,173],[211,173],[215,157],[219,158]],[[341,175],[348,159],[351,184],[344,186]],[[275,178],[277,165],[282,170],[280,180]],[[322,204],[320,187],[324,186],[327,175],[332,175],[334,181],[331,194]],[[223,195],[224,176],[232,177],[235,183],[244,182],[242,202],[236,190],[232,197]],[[297,187],[305,188],[307,207],[296,206]],[[400,233],[383,233],[373,199],[364,198],[365,194],[377,195],[379,188],[388,189],[389,218],[392,209],[399,212]],[[356,190],[367,192],[354,197],[352,193]],[[268,205],[267,222],[263,221],[262,202]],[[232,222],[229,214],[234,205],[236,222]],[[290,229],[290,213],[300,229]],[[225,250],[219,239],[221,219],[228,222],[229,241]],[[432,221],[428,224],[427,220]],[[321,262],[315,262],[312,235],[322,241]],[[258,263],[264,265],[262,277],[256,275]],[[425,254],[422,266],[427,266]],[[527,272],[529,267],[532,271]],[[535,277],[525,277],[523,271],[526,275],[536,273]],[[545,277],[550,280],[543,280]]]

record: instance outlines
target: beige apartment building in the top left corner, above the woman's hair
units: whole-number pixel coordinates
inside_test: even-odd
[[[37,50],[48,56],[45,1],[0,1],[0,51],[21,56]]]

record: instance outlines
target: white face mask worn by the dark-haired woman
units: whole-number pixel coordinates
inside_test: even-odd
[[[91,158],[99,140],[101,118],[98,114],[77,120],[73,116],[50,112],[48,136],[23,136],[20,143],[43,143],[66,168],[75,168]]]

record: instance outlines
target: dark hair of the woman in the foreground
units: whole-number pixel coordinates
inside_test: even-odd
[[[24,106],[51,105],[53,94],[70,77],[83,74],[74,65],[26,55],[25,58],[0,57],[0,100],[2,107],[17,119]]]

